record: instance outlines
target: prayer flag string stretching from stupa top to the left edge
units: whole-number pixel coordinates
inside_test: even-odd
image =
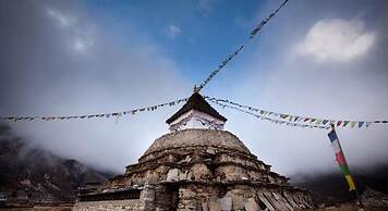
[[[53,121],[53,120],[89,120],[89,119],[96,119],[96,117],[120,117],[123,115],[134,115],[140,112],[145,112],[145,111],[155,111],[159,108],[163,107],[173,107],[175,104],[179,104],[181,102],[186,102],[189,98],[183,98],[166,103],[160,103],[160,104],[155,104],[151,107],[144,107],[140,109],[132,109],[128,111],[119,111],[119,112],[111,112],[111,113],[99,113],[99,114],[84,114],[84,115],[45,115],[45,116],[0,116],[0,120],[2,121],[10,121],[10,122],[17,122],[17,121]]]

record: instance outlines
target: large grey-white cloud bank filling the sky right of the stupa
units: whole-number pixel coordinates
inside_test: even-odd
[[[344,8],[338,8],[335,1],[325,1],[325,7],[315,5],[315,1],[288,4],[264,28],[260,42],[252,45],[252,49],[257,47],[256,53],[239,70],[247,71],[231,83],[240,87],[229,87],[226,96],[256,108],[295,115],[332,120],[387,119],[388,63],[381,55],[388,53],[388,44],[378,39],[383,36],[377,36],[387,34],[386,9],[380,4],[361,3],[355,8],[348,4],[353,5],[351,1]],[[314,7],[318,7],[319,12],[312,10]],[[344,21],[355,16],[359,8],[372,11],[359,21]],[[368,24],[371,29],[367,30],[363,23],[374,24]],[[336,42],[331,42],[332,39]],[[304,51],[295,57],[295,40],[303,40],[301,44],[313,50],[299,49]],[[287,175],[337,171],[328,131],[271,124],[229,110],[220,112],[229,120],[226,127],[238,134],[251,151],[275,171]],[[338,128],[337,132],[350,169],[388,160],[386,126]]]

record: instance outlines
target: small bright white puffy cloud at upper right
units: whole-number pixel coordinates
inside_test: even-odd
[[[375,41],[376,34],[362,21],[325,18],[310,28],[296,52],[318,61],[347,62],[367,53]]]

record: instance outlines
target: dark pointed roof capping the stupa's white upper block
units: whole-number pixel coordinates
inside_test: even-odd
[[[209,114],[221,121],[227,121],[221,114],[218,113],[198,92],[194,92],[187,100],[187,102],[174,113],[170,119],[166,121],[167,124],[172,123],[182,114],[186,113],[190,110],[196,110]]]

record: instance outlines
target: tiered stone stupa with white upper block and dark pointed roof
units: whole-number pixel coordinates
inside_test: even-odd
[[[256,211],[313,208],[307,190],[270,171],[198,94],[157,138],[108,184],[83,190],[73,210]]]

